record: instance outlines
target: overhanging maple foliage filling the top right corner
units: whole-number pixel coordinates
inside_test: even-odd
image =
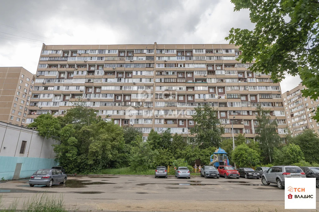
[[[249,9],[253,30],[234,29],[226,37],[240,46],[242,63],[249,69],[271,73],[275,83],[285,73],[300,75],[305,97],[319,95],[319,2],[318,0],[231,0],[235,11]],[[314,119],[319,121],[317,108]]]

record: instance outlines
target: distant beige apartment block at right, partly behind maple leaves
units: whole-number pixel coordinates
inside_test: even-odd
[[[319,123],[312,119],[312,111],[319,106],[319,100],[303,97],[301,91],[304,88],[305,86],[300,83],[283,93],[287,124],[293,135],[298,135],[308,128],[319,132]]]

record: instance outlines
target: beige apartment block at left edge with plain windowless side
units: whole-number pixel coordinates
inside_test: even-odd
[[[22,67],[0,67],[0,121],[24,126],[34,76]]]

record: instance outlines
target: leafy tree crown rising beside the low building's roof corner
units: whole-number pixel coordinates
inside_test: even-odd
[[[51,114],[41,114],[28,125],[28,128],[32,127],[37,127],[39,135],[43,137],[58,139],[61,130],[61,123]]]

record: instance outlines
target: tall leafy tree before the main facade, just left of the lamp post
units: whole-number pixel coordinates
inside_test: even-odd
[[[195,144],[200,149],[219,146],[224,128],[217,117],[218,112],[209,105],[198,106],[195,112],[193,120],[196,124],[190,129],[191,135],[196,134]]]

